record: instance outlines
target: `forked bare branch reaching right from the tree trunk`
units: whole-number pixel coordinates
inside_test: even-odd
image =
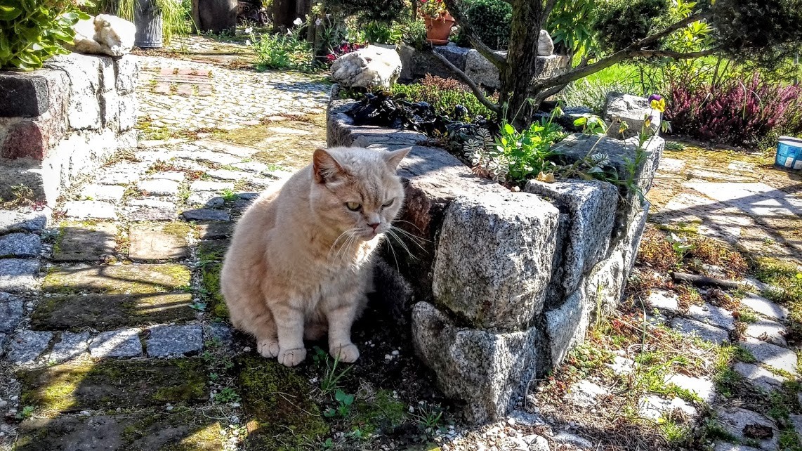
[[[590,74],[594,74],[597,71],[606,69],[607,67],[613,66],[615,63],[620,63],[624,59],[629,59],[634,56],[666,56],[674,59],[688,59],[688,58],[699,58],[700,56],[711,55],[712,53],[715,52],[715,49],[708,49],[706,51],[679,53],[675,51],[649,50],[643,48],[651,43],[654,43],[662,38],[665,38],[671,33],[674,33],[674,31],[683,28],[683,26],[687,26],[689,23],[696,22],[706,17],[707,14],[693,14],[690,17],[683,18],[683,20],[676,22],[671,26],[666,27],[659,33],[656,33],[651,36],[646,36],[646,38],[639,40],[637,43],[630,44],[628,47],[615,52],[613,55],[599,59],[596,63],[588,64],[585,66],[580,65],[574,67],[570,71],[565,72],[564,74],[554,75],[553,77],[549,77],[548,79],[539,79],[535,83],[533,83],[533,91],[540,91],[545,87],[553,87],[565,83],[570,83],[574,80],[581,79]]]

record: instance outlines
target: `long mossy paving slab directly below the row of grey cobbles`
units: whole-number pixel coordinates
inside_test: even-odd
[[[17,373],[22,405],[43,412],[138,408],[209,399],[201,359],[106,360]]]

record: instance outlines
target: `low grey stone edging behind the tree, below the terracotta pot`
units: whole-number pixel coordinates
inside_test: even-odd
[[[447,46],[434,46],[432,50],[446,57],[450,63],[460,71],[464,71],[465,75],[471,77],[474,82],[491,89],[501,87],[498,68],[478,51],[467,47],[457,47],[454,43]],[[407,44],[401,44],[399,53],[403,63],[400,79],[403,81],[419,79],[426,74],[444,78],[453,78],[454,76],[443,62],[427,51],[416,51]],[[496,51],[496,53],[504,58],[507,57],[506,51]],[[569,63],[568,57],[564,55],[535,56],[534,58],[537,59],[537,74],[543,77],[565,71]]]

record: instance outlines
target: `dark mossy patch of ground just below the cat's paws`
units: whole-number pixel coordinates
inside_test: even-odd
[[[329,433],[310,399],[309,383],[297,371],[260,356],[242,356],[237,368],[248,418],[247,449],[307,449]]]

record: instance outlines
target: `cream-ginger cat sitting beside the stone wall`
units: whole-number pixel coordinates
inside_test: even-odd
[[[328,331],[329,352],[354,362],[350,329],[372,288],[371,258],[403,205],[395,171],[410,148],[314,151],[311,165],[262,193],[234,230],[221,291],[234,327],[286,366]]]

